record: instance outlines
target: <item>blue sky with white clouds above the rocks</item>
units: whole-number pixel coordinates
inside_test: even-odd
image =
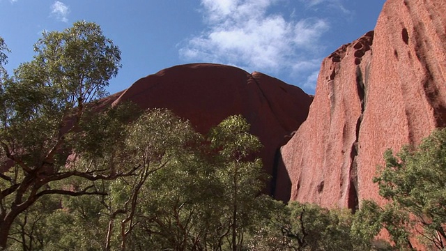
[[[10,73],[42,31],[96,22],[120,47],[109,92],[158,70],[210,62],[259,71],[314,93],[325,56],[374,29],[385,0],[0,0]]]

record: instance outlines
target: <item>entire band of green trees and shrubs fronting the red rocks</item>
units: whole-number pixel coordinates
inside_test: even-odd
[[[97,24],[45,32],[34,50],[8,75],[0,38],[0,250],[445,248],[446,130],[385,153],[385,205],[284,204],[261,194],[242,116],[201,135],[164,109],[101,106],[121,52]]]

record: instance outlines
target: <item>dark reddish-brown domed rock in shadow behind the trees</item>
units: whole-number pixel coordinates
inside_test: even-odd
[[[131,100],[141,108],[167,108],[206,133],[226,117],[242,114],[263,144],[260,157],[272,174],[269,190],[279,199],[289,197],[291,185],[284,169],[275,167],[280,146],[307,118],[312,96],[279,79],[249,74],[231,66],[196,63],[174,66],[144,77],[129,89],[102,102]],[[277,185],[276,185],[277,184]]]

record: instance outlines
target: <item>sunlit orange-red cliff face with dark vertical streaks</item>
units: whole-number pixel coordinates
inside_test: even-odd
[[[307,121],[282,147],[291,199],[357,208],[386,149],[446,126],[446,1],[387,0],[375,31],[328,56]]]

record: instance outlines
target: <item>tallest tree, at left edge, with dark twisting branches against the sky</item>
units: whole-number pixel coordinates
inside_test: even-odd
[[[88,104],[104,96],[121,67],[121,52],[100,26],[76,22],[64,31],[45,31],[34,51],[33,60],[0,86],[0,248],[6,247],[15,219],[41,197],[102,195],[95,181],[128,176],[136,169],[77,165],[78,156],[89,149],[75,142],[98,139],[93,139],[97,133],[89,134],[95,130],[89,125],[94,105]],[[0,61],[5,60],[0,54]],[[72,177],[90,182],[53,185]]]

